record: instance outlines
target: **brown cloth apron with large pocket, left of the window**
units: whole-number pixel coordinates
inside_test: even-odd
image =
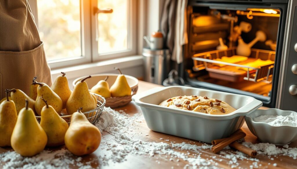
[[[43,43],[27,0],[0,0],[0,99],[4,90],[29,94],[34,76],[52,85]]]

